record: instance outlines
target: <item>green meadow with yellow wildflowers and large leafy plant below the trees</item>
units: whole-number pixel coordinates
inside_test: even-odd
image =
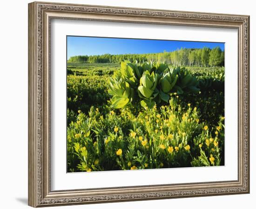
[[[223,67],[69,66],[68,172],[224,165]]]

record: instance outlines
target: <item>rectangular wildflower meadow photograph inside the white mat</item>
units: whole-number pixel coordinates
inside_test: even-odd
[[[67,172],[225,165],[225,43],[66,41]]]

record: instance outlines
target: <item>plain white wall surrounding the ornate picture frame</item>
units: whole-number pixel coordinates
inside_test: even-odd
[[[256,14],[251,0],[61,0],[63,3],[141,7],[193,12],[250,15],[250,95],[251,95],[251,193],[247,195],[212,196],[66,206],[87,209],[130,208],[254,208],[256,198],[254,132],[256,111]],[[3,209],[23,209],[27,206],[27,0],[1,2],[0,33],[0,206]],[[57,207],[60,208],[60,207]]]

